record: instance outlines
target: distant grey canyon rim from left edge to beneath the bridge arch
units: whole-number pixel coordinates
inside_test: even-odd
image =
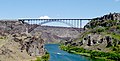
[[[35,29],[32,30],[32,28]],[[13,20],[0,20],[0,33],[25,33],[26,30],[30,29],[30,33],[41,32],[42,39],[45,43],[58,43],[60,41],[76,38],[79,35],[78,28],[72,27],[55,27],[55,26],[41,26],[41,25],[30,25],[28,23],[22,23],[20,21]],[[81,29],[83,30],[83,29]]]

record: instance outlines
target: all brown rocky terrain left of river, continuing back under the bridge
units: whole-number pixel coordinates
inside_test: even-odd
[[[77,30],[0,20],[0,61],[34,60],[45,54],[45,43],[59,43],[76,38],[79,34]]]

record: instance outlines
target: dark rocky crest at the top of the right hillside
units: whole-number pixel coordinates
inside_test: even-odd
[[[84,28],[95,28],[96,26],[101,27],[112,27],[120,24],[120,13],[113,13],[104,15],[102,17],[93,18]]]

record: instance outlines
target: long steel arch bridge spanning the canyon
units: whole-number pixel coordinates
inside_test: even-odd
[[[28,32],[34,30],[37,25],[43,25],[49,22],[61,22],[71,26],[72,28],[82,28],[82,21],[91,21],[92,19],[18,19],[22,23],[27,22],[30,25],[36,25],[35,27],[28,29]]]

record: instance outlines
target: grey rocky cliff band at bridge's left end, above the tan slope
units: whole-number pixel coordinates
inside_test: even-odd
[[[10,21],[10,20],[0,20],[0,32],[2,33],[20,33],[25,32],[26,27],[23,23],[19,21]]]

